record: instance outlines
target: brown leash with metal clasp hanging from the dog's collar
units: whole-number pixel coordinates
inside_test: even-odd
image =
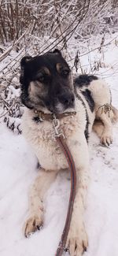
[[[68,149],[67,144],[65,143],[65,136],[58,131],[58,128],[60,126],[60,121],[54,117],[53,119],[53,127],[55,130],[55,138],[57,140],[57,143],[61,147],[61,150],[65,154],[65,158],[68,162],[69,169],[71,171],[71,191],[70,191],[70,197],[69,197],[69,203],[68,203],[68,213],[66,216],[65,221],[65,228],[61,235],[61,241],[57,247],[57,252],[55,256],[61,256],[65,250],[65,245],[68,237],[68,231],[70,228],[70,223],[72,219],[72,210],[73,210],[73,204],[76,197],[76,166],[72,158],[72,154],[70,150]]]

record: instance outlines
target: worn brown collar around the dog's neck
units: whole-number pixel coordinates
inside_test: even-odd
[[[40,110],[34,110],[34,113],[37,115],[37,117],[39,117],[40,121],[53,121],[53,118],[55,117],[53,113],[43,113]],[[69,117],[69,116],[75,116],[75,115],[76,115],[76,111],[58,113],[56,115],[56,118],[61,119],[63,117]]]

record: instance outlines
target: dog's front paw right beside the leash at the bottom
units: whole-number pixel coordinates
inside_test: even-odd
[[[77,226],[74,228],[71,225],[66,243],[66,249],[69,251],[70,256],[82,256],[87,247],[88,239],[84,224],[78,228]]]

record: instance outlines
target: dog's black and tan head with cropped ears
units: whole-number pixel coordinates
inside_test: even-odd
[[[63,113],[74,107],[71,70],[59,50],[21,62],[21,99],[29,109]]]

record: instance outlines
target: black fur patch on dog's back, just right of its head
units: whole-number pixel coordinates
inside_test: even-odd
[[[98,77],[93,75],[80,75],[74,80],[74,85],[82,88],[83,86],[89,86],[90,82],[93,80],[98,80]]]

